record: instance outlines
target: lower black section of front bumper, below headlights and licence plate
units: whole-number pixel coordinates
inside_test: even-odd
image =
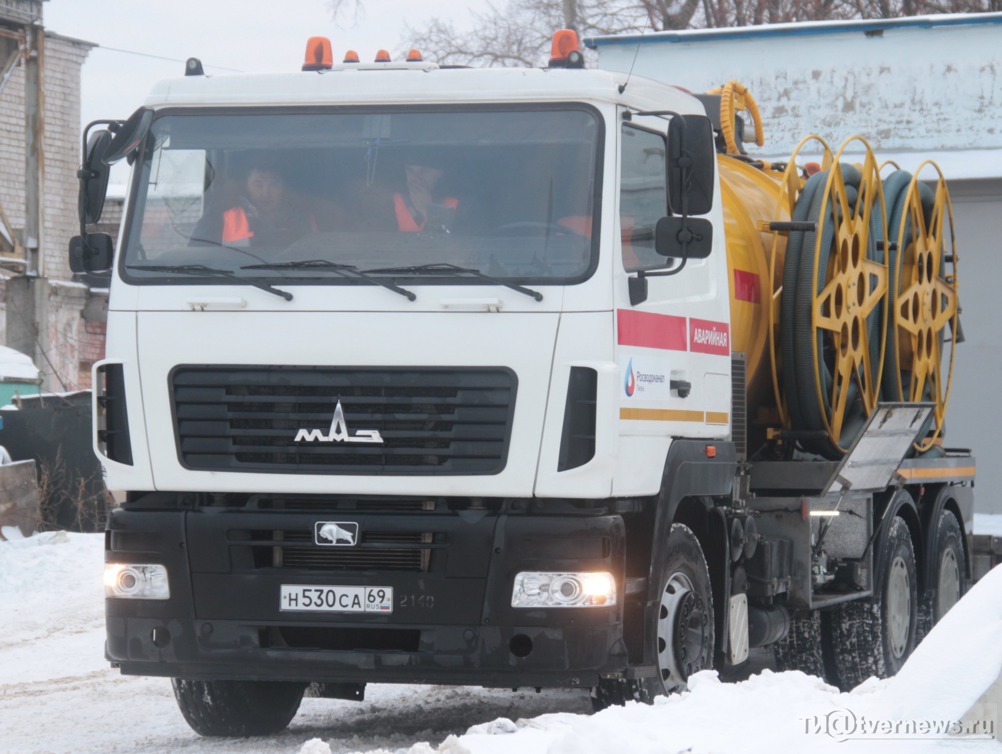
[[[109,617],[106,656],[123,674],[135,676],[501,688],[591,687],[599,673],[626,667],[618,626],[437,626],[419,631],[417,652],[339,652],[265,648],[261,628],[238,621]],[[511,652],[517,635],[533,643],[527,657]]]

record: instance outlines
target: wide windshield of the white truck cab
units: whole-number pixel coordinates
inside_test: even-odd
[[[165,268],[201,265],[357,284],[333,270],[408,277],[399,268],[455,265],[579,281],[597,254],[599,132],[583,106],[166,114],[143,151],[122,274],[162,282]],[[435,277],[410,275],[408,285]]]

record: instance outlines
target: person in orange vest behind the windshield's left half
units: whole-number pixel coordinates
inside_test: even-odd
[[[314,215],[297,206],[282,173],[268,164],[252,167],[236,201],[227,204],[221,212],[206,210],[191,234],[192,246],[280,246],[318,231]]]

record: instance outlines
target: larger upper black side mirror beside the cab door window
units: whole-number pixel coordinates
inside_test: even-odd
[[[675,115],[668,123],[668,210],[705,215],[713,207],[713,124],[705,115]],[[691,255],[690,255],[691,256]]]

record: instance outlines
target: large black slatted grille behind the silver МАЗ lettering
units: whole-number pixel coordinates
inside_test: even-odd
[[[517,380],[508,369],[177,367],[178,455],[191,469],[323,474],[496,474]],[[351,436],[321,441],[340,402]],[[300,430],[313,440],[296,441]]]

